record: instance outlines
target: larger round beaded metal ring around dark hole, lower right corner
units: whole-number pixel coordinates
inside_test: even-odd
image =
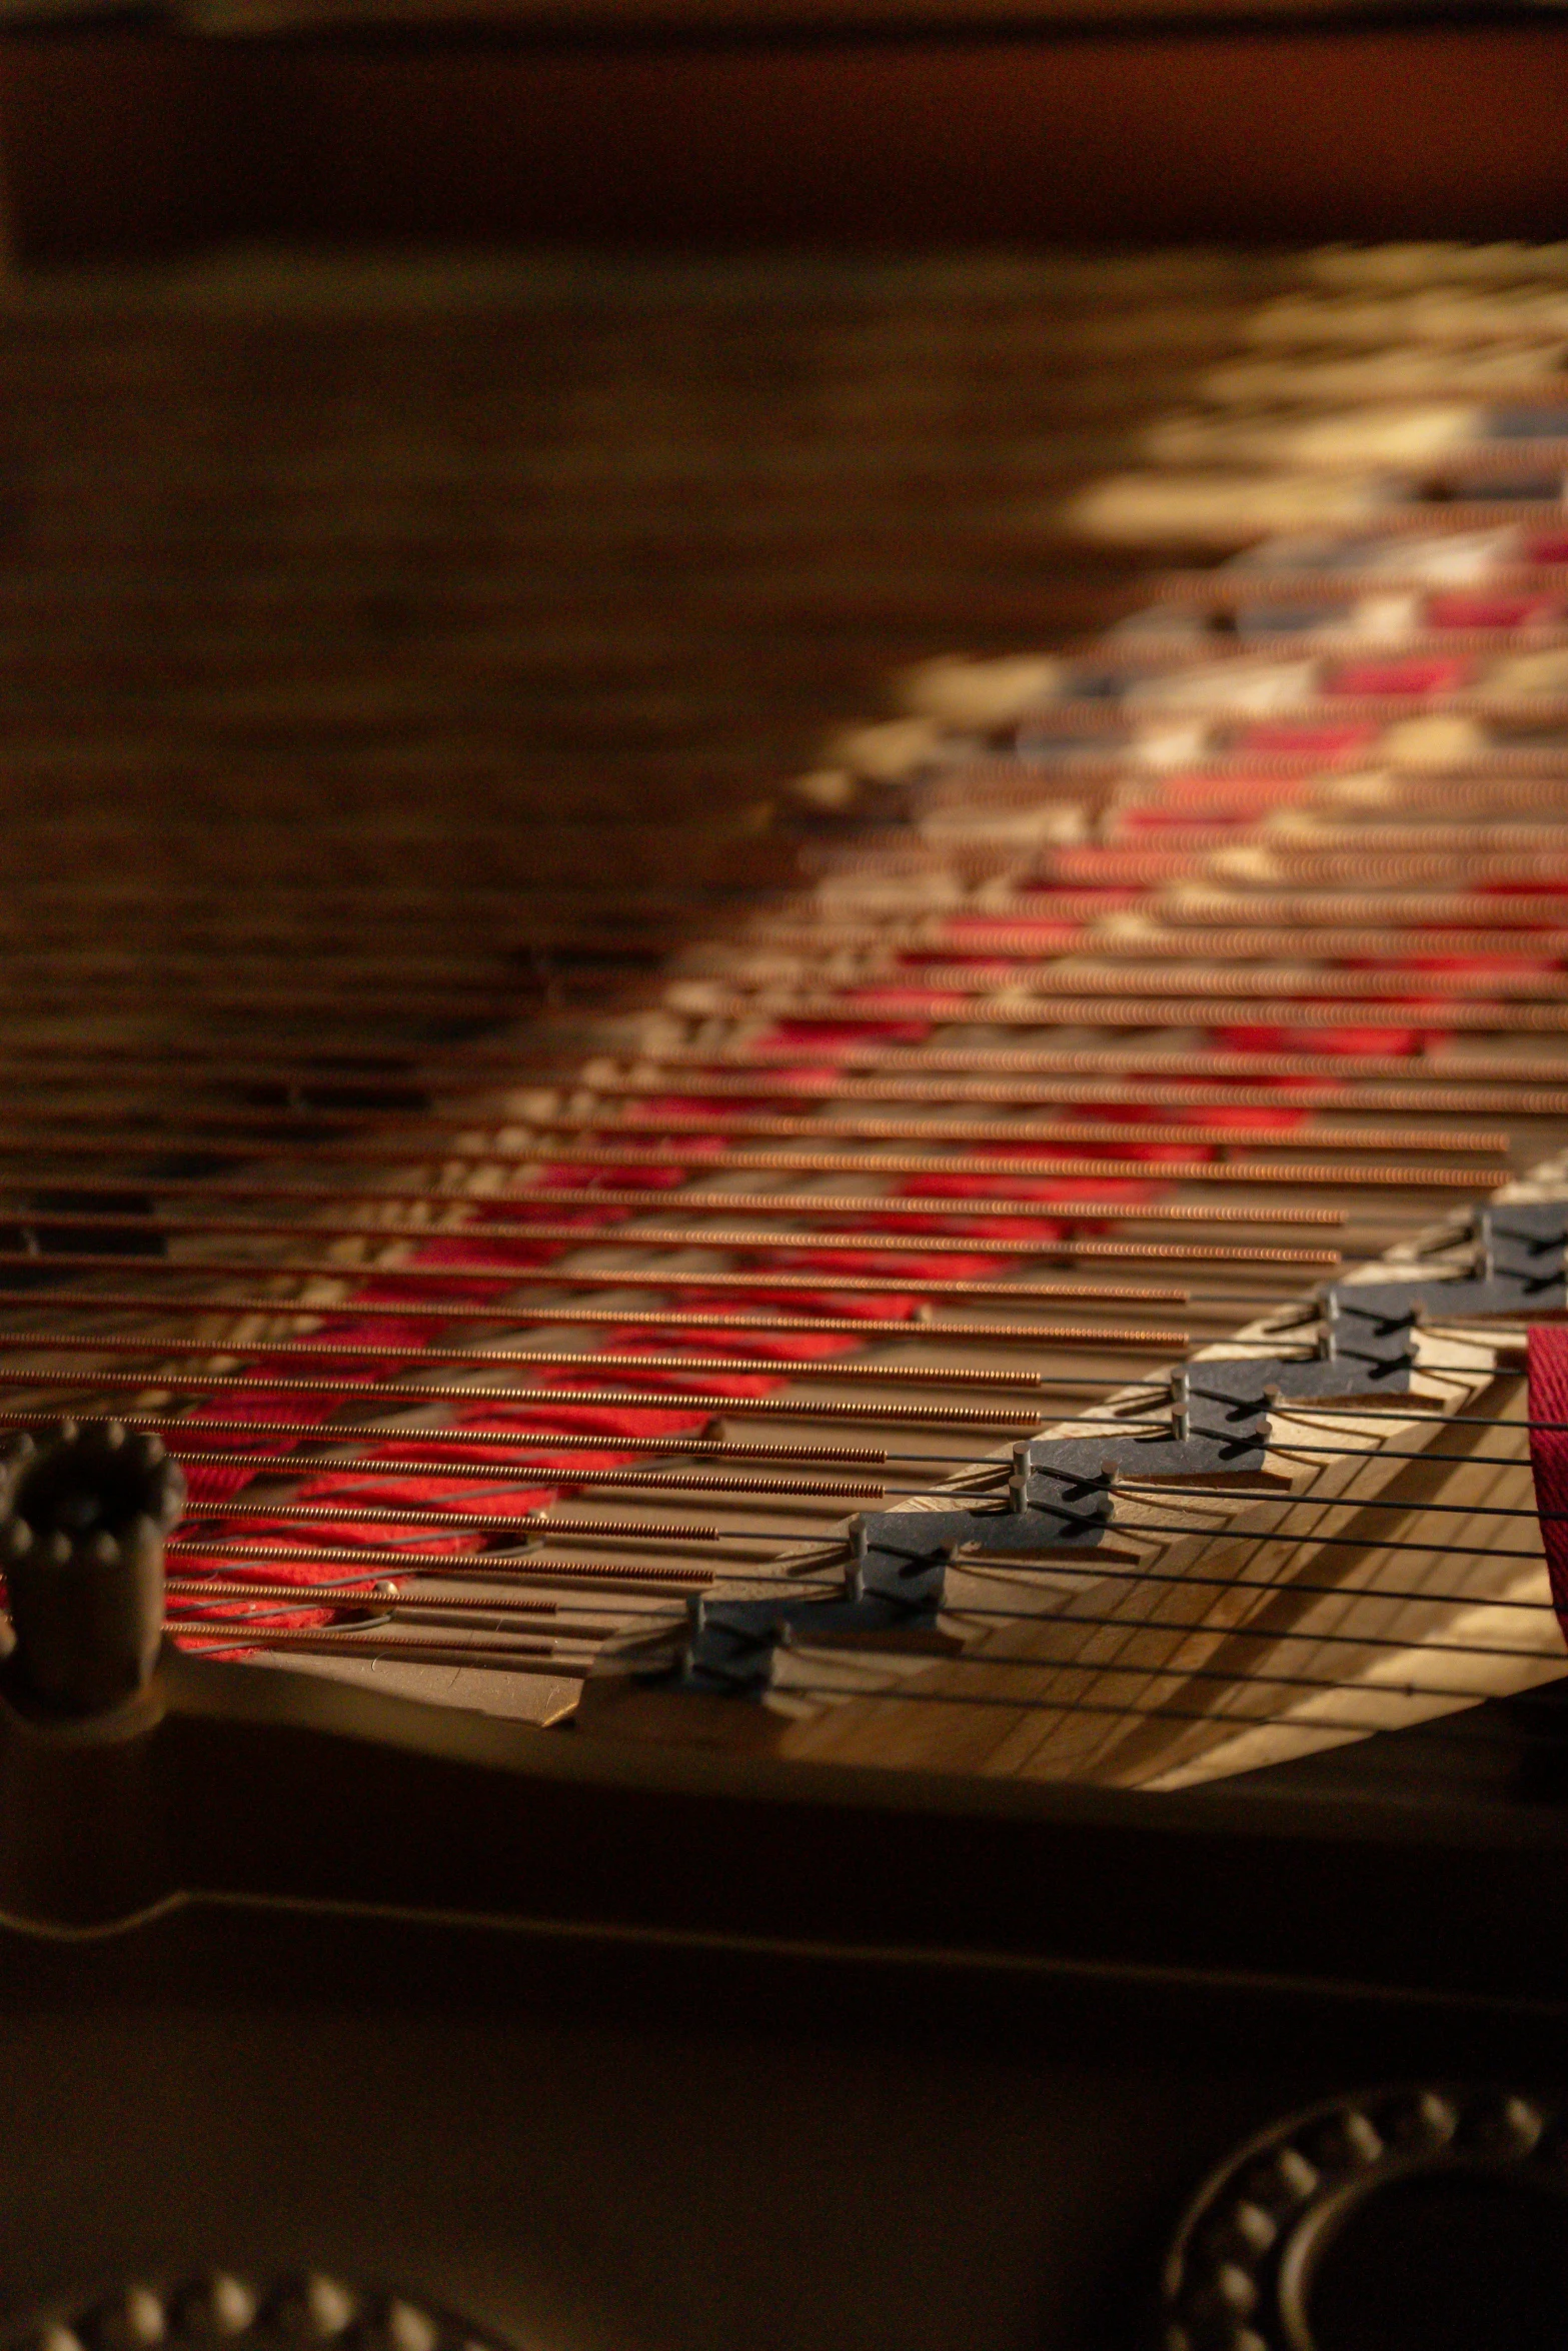
[[[1568,2102],[1413,2083],[1274,2123],[1175,2233],[1159,2351],[1568,2344]]]

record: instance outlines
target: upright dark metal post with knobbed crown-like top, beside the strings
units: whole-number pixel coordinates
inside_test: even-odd
[[[162,1547],[186,1479],[162,1439],[61,1420],[0,1453],[0,1566],[24,1704],[106,1714],[141,1690],[162,1639]]]

